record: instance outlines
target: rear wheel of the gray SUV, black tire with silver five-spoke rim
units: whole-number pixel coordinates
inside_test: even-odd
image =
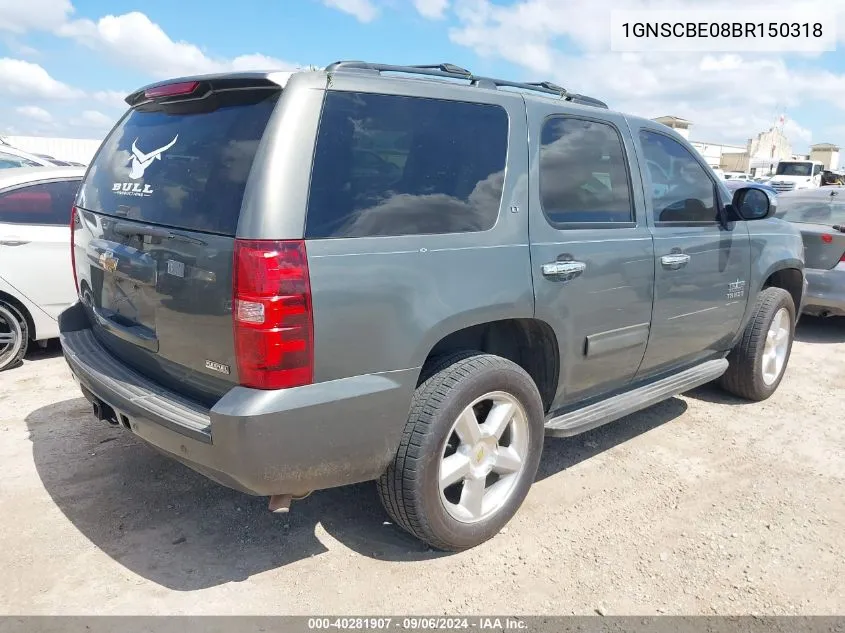
[[[543,405],[525,370],[499,356],[459,352],[423,376],[378,491],[397,525],[460,551],[493,537],[522,505],[543,450]]]

